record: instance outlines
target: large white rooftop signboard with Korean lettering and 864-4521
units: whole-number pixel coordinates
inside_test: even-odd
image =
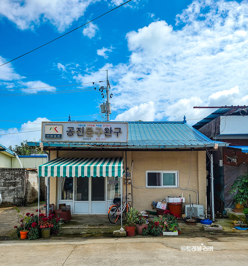
[[[126,143],[127,122],[42,122],[43,142]]]

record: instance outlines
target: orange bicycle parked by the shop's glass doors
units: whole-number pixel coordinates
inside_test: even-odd
[[[131,193],[128,193],[128,195],[132,196]],[[122,212],[121,212],[121,198],[119,196],[122,196]],[[130,198],[127,197],[127,202],[126,202],[126,197],[123,195],[118,195],[118,198],[114,198],[113,203],[109,210],[108,210],[108,220],[110,223],[116,223],[116,221],[119,219],[119,215],[121,213],[127,213],[129,209],[131,208],[131,205],[129,204]]]

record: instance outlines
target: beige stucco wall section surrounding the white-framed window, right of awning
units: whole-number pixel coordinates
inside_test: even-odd
[[[133,185],[145,187],[145,171],[179,171],[179,187],[196,190],[199,194],[198,204],[205,206],[206,191],[206,163],[205,151],[192,151],[191,170],[190,151],[170,151],[170,152],[132,152],[133,163]],[[191,201],[196,204],[197,194],[194,191],[182,191],[179,188],[134,188],[133,205],[137,210],[152,210],[152,200],[165,199],[167,196],[183,196],[185,204],[189,204],[189,194]]]

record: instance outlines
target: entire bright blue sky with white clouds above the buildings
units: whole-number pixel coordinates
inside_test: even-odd
[[[0,61],[123,2],[2,0]],[[0,96],[0,143],[39,140],[41,121],[67,121],[69,114],[101,120],[103,99],[91,88],[106,80],[106,69],[114,94],[111,120],[178,121],[185,115],[192,125],[213,111],[193,106],[247,105],[247,25],[248,1],[133,0],[0,67],[0,94],[8,95]]]

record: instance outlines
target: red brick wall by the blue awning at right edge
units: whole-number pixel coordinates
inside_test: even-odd
[[[248,146],[248,139],[224,139],[223,142],[231,143],[230,146]],[[227,162],[227,158],[237,156],[237,165],[234,162]],[[248,164],[248,154],[241,151],[241,149],[223,148],[223,164],[230,166],[239,166],[243,162]]]

